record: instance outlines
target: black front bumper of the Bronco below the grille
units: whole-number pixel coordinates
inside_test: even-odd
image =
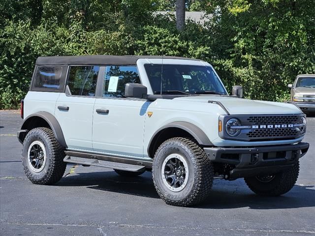
[[[235,167],[231,169],[229,179],[288,169],[308,149],[308,143],[252,148],[204,148],[212,162]]]

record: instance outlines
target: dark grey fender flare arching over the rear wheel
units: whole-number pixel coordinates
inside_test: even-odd
[[[60,143],[61,146],[67,148],[67,144],[65,142],[64,136],[63,136],[63,130],[58,122],[58,120],[50,113],[48,112],[36,112],[30,116],[28,116],[21,127],[22,130],[28,130],[28,125],[32,121],[32,117],[40,117],[43,118],[48,125],[50,126],[51,130],[53,131],[56,140]],[[21,142],[21,141],[20,141]]]

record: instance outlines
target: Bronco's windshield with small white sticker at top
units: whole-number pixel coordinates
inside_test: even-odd
[[[218,76],[210,66],[163,64],[163,68],[161,68],[161,64],[145,64],[144,67],[155,94],[227,95]]]

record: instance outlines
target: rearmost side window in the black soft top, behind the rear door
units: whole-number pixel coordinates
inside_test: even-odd
[[[32,90],[63,91],[66,69],[64,65],[37,66],[33,78]]]

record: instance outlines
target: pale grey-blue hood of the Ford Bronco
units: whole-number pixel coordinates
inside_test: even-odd
[[[293,104],[281,102],[268,102],[249,100],[228,96],[200,95],[177,97],[173,100],[188,102],[218,101],[231,115],[264,115],[264,114],[301,114],[302,112]]]

